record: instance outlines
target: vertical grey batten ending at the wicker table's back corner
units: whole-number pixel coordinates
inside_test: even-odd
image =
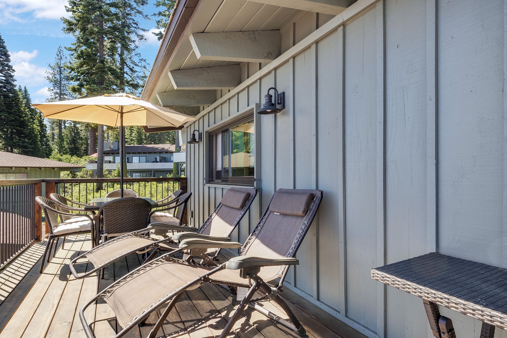
[[[437,0],[426,1],[426,217],[427,251],[438,252]]]

